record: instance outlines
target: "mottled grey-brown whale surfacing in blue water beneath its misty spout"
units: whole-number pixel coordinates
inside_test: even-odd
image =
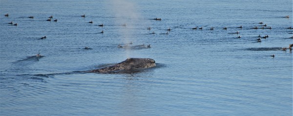
[[[101,67],[95,70],[89,70],[89,73],[110,73],[115,71],[131,71],[131,70],[140,70],[149,67],[156,66],[155,60],[150,58],[127,58],[125,61],[111,65]]]

